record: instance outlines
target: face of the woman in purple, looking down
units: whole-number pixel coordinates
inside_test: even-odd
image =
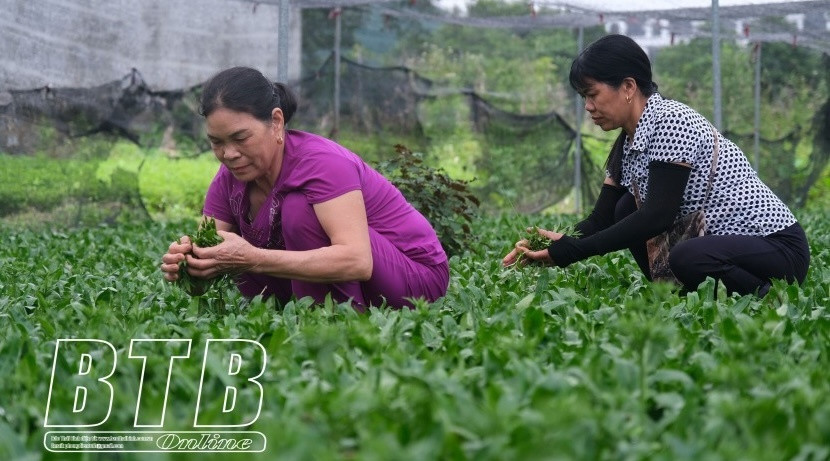
[[[251,114],[219,108],[205,120],[213,154],[240,181],[253,181],[272,166],[282,136],[275,121],[263,122]]]

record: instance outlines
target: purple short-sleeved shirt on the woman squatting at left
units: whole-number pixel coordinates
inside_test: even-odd
[[[360,190],[371,229],[415,262],[435,265],[447,260],[432,226],[389,180],[348,149],[321,136],[286,132],[280,176],[250,221],[246,188],[247,183],[221,166],[208,189],[203,213],[234,224],[254,246],[285,248],[279,223],[280,205],[286,194],[301,192],[313,205]]]

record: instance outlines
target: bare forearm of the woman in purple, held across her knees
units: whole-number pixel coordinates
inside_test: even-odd
[[[255,248],[249,271],[316,283],[365,281],[372,276],[372,254],[347,245],[306,251]]]

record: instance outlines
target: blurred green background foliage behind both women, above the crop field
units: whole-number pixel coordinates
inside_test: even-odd
[[[429,1],[411,8],[438,14]],[[527,213],[574,210],[579,126],[582,203],[590,209],[615,133],[577,118],[567,83],[574,31],[390,20],[346,8],[335,126],[329,13],[303,10],[303,30],[315,33],[303,34],[306,77],[290,82],[300,96],[294,128],[331,136],[373,165],[392,160],[394,145],[404,144],[431,168],[469,181],[484,211]],[[526,15],[527,6],[479,0],[469,14]],[[605,33],[586,29],[584,43]],[[752,160],[753,46],[726,39],[722,50],[723,131]],[[765,43],[762,56],[759,175],[793,206],[826,207],[830,59],[786,43]],[[652,60],[664,96],[713,118],[710,40],[652,51]],[[124,208],[154,219],[198,215],[218,168],[195,111],[199,89],[154,93],[133,75],[108,99],[121,108],[113,111],[118,123],[78,110],[61,113],[61,123],[33,123],[25,152],[0,153],[0,216],[25,223],[60,212],[71,222],[86,213],[80,207],[95,211],[92,220],[115,219]]]

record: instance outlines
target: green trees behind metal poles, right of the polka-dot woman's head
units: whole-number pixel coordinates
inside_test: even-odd
[[[721,48],[722,131],[752,158],[754,133],[754,54],[752,45],[724,41]],[[801,205],[814,171],[813,119],[828,98],[822,55],[786,43],[764,43],[761,61],[761,178],[783,200]],[[662,50],[656,79],[667,97],[682,101],[713,120],[711,41],[695,39]],[[819,170],[820,171],[820,170]]]

